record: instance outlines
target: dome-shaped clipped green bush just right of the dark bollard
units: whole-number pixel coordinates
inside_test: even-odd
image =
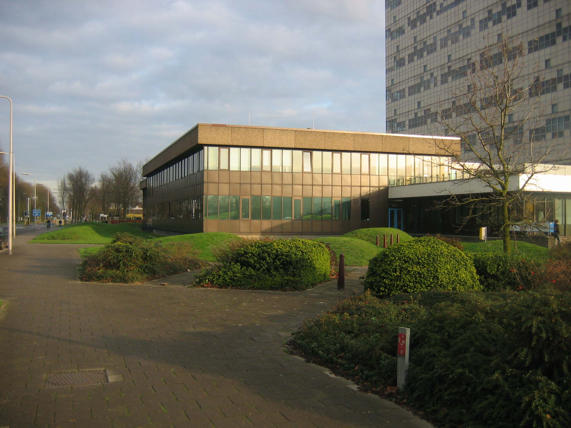
[[[472,261],[433,237],[393,245],[373,257],[363,285],[379,297],[429,289],[481,289]]]

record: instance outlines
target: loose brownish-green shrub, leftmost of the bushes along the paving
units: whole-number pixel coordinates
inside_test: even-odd
[[[198,267],[196,252],[188,244],[162,245],[129,233],[116,233],[111,243],[85,257],[79,277],[91,282],[144,282]]]

